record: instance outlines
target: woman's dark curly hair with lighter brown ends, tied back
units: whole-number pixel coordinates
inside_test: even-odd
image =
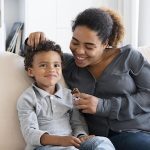
[[[97,32],[101,42],[117,47],[124,37],[124,25],[118,13],[106,8],[88,8],[79,13],[72,22],[72,31],[77,26],[86,26]]]

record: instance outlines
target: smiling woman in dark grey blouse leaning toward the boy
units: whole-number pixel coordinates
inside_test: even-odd
[[[118,48],[124,27],[112,10],[90,8],[72,25],[63,74],[69,88],[80,90],[76,107],[90,134],[106,136],[117,150],[150,149],[150,64],[127,45]],[[31,33],[27,44],[44,40]]]

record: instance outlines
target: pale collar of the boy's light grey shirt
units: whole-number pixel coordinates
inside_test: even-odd
[[[35,85],[35,83],[32,83],[32,87],[35,88],[39,92],[40,96],[43,98],[45,98],[47,96],[52,96],[52,94],[50,94],[50,93],[44,91],[43,89],[37,87]],[[63,99],[63,88],[59,83],[56,84],[56,92],[55,92],[54,96],[59,97],[60,99]]]

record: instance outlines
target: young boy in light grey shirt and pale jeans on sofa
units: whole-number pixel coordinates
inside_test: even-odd
[[[25,70],[34,83],[17,103],[26,150],[113,150],[107,138],[87,135],[71,91],[58,83],[62,60],[61,48],[53,41],[26,49]]]

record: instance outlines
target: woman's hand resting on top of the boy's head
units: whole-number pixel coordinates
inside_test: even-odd
[[[41,41],[46,39],[46,35],[43,32],[32,32],[28,37],[27,44],[31,47],[36,47]]]

